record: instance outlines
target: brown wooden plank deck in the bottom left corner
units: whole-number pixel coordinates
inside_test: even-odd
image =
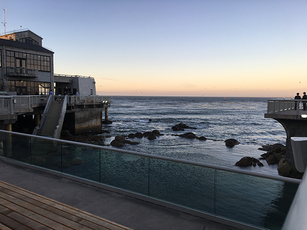
[[[3,181],[0,181],[0,229],[131,230]]]

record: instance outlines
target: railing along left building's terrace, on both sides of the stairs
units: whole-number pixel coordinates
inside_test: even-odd
[[[46,96],[0,96],[0,113],[14,113],[14,108],[29,109],[34,104],[47,103],[49,95]],[[103,103],[109,105],[109,96],[67,96],[67,103]],[[53,100],[64,100],[64,96],[53,96]]]

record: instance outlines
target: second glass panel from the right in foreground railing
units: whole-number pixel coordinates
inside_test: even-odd
[[[214,213],[214,169],[151,158],[149,178],[149,196]]]

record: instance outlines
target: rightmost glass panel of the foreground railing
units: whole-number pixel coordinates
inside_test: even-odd
[[[216,170],[216,215],[279,230],[297,184]]]

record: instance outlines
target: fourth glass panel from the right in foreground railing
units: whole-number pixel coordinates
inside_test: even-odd
[[[99,182],[99,149],[78,144],[62,145],[62,172]]]

